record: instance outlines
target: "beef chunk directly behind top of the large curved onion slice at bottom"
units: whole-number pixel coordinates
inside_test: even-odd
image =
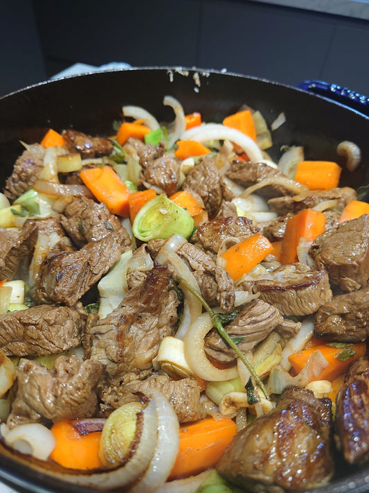
[[[102,394],[103,415],[136,399],[137,392],[147,392],[151,388],[160,390],[172,404],[180,423],[201,420],[205,412],[201,410],[200,390],[195,379],[172,380],[167,375],[153,374],[145,380],[135,380],[125,386],[108,389]]]

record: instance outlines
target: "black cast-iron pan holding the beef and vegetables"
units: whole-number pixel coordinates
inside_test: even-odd
[[[267,123],[284,112],[286,123],[273,132],[271,157],[280,146],[302,145],[306,159],[336,160],[340,141],[361,148],[361,165],[354,173],[344,169],[341,184],[357,188],[369,182],[369,118],[326,98],[268,80],[201,69],[150,67],[89,73],[40,83],[0,98],[1,189],[23,148],[19,141],[39,141],[47,128],[75,128],[92,135],[111,135],[121,119],[123,104],[141,105],[163,121],[172,110],[163,96],[174,96],[186,112],[200,111],[204,121],[222,121],[242,104],[260,110]],[[369,491],[369,468],[352,470],[342,465],[340,474],[321,493]],[[0,478],[24,491],[91,493],[90,489],[62,483],[28,467],[0,447]]]

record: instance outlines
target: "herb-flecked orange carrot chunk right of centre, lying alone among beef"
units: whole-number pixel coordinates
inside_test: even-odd
[[[273,250],[270,241],[260,233],[253,234],[231,246],[220,257],[225,259],[224,268],[234,281],[258,265]]]

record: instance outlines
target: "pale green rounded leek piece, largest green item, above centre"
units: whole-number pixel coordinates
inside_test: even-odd
[[[193,219],[187,211],[168,197],[159,195],[148,200],[138,211],[132,232],[141,241],[166,240],[172,234],[189,238],[193,225]]]

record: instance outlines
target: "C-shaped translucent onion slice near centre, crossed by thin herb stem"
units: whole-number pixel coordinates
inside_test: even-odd
[[[224,381],[238,377],[237,366],[220,370],[210,363],[204,349],[204,337],[213,329],[213,322],[208,313],[203,313],[190,325],[185,338],[184,352],[192,372],[207,381]]]

